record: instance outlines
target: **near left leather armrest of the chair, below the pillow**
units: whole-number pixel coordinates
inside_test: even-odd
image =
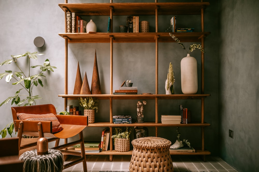
[[[43,133],[52,133],[52,121],[28,121],[28,120],[14,120],[14,121],[15,121],[16,129],[19,128],[19,123],[21,121],[23,121],[23,132],[37,132],[38,133],[38,123],[41,122],[42,132]]]

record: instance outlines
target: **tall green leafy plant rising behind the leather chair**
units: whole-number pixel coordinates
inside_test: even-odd
[[[5,101],[3,101],[0,104],[0,106],[2,106],[3,104],[7,104],[9,101],[11,101],[11,104],[15,103],[18,106],[22,105],[23,103],[24,103],[23,104],[24,106],[35,105],[36,104],[35,100],[42,99],[39,95],[33,96],[33,87],[34,86],[37,87],[38,84],[43,87],[42,80],[41,80],[42,77],[45,77],[43,75],[43,72],[47,70],[54,72],[53,68],[56,69],[56,67],[51,66],[48,59],[45,60],[43,65],[30,66],[30,60],[31,59],[37,60],[38,59],[37,55],[43,55],[43,54],[38,54],[37,52],[33,52],[33,53],[26,52],[24,54],[11,55],[12,59],[7,59],[2,63],[0,63],[0,66],[15,63],[18,68],[18,71],[16,72],[13,72],[12,70],[5,70],[4,73],[0,73],[0,80],[5,76],[5,81],[7,83],[9,83],[13,79],[13,80],[16,80],[16,82],[12,83],[12,85],[19,84],[22,87],[21,89],[16,91],[14,96],[8,97]],[[18,60],[21,59],[22,57],[25,57],[28,60],[27,71],[24,69],[21,69],[18,64]],[[31,68],[37,68],[37,67],[40,68],[40,72],[37,74],[31,75]],[[25,74],[26,72],[28,74]],[[19,95],[22,89],[25,89],[28,95]],[[21,100],[22,96],[25,97],[25,99]]]

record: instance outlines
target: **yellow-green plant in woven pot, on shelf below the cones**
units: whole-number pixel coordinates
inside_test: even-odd
[[[88,116],[88,123],[95,122],[95,110],[98,112],[98,100],[95,97],[78,98],[79,104],[84,108],[84,116]]]

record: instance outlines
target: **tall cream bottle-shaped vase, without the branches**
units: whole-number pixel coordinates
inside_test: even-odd
[[[190,54],[181,60],[181,86],[183,94],[196,94],[198,91],[197,60]]]

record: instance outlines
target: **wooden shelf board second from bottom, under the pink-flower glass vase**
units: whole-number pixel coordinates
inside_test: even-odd
[[[110,122],[95,122],[92,124],[88,124],[88,127],[208,127],[210,124],[208,123],[199,123],[199,122],[193,122],[190,124],[162,124],[161,122],[155,123],[155,122],[143,122],[143,123],[133,123],[133,124],[113,124]]]

